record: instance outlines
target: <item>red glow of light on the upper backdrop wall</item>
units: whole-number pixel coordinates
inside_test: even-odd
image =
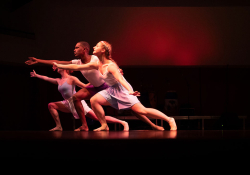
[[[202,64],[214,54],[215,41],[199,15],[185,8],[132,8],[116,38],[114,57],[120,65]]]

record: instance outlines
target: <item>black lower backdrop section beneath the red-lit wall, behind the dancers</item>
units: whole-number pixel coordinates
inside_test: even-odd
[[[192,115],[221,116],[225,112],[249,115],[248,66],[122,66],[127,81],[142,92],[140,100],[147,107],[148,93],[156,95],[155,108],[164,111],[166,93],[176,91],[178,111],[194,108]],[[61,101],[57,86],[29,77],[32,70],[42,75],[59,77],[50,66],[1,64],[1,130],[48,130],[54,121],[47,108],[49,102]],[[86,80],[79,72],[77,76]],[[189,88],[189,91],[188,91]],[[189,99],[188,99],[189,96]],[[109,110],[110,111],[110,110]],[[110,115],[113,114],[107,113]],[[64,129],[72,129],[71,114],[59,113]]]

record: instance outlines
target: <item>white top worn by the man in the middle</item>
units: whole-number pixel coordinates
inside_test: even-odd
[[[95,55],[91,55],[90,62],[98,62],[99,59]],[[81,65],[81,59],[72,60],[72,64]],[[103,80],[102,74],[99,70],[91,69],[91,70],[81,70],[82,75],[95,87],[101,86],[105,81]]]

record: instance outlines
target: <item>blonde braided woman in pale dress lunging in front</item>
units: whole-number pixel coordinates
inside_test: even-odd
[[[91,99],[91,106],[97,115],[101,127],[94,131],[109,130],[107,122],[105,120],[103,106],[112,106],[116,109],[130,108],[135,113],[140,115],[146,115],[155,119],[162,119],[169,123],[170,130],[177,130],[177,126],[174,118],[168,117],[162,112],[153,109],[145,108],[136,96],[140,93],[133,91],[131,85],[125,80],[125,78],[119,72],[119,67],[115,61],[111,58],[111,45],[106,41],[100,41],[94,47],[93,54],[99,58],[99,62],[92,65],[62,65],[54,63],[58,68],[62,69],[74,69],[74,70],[100,70],[105,82],[110,86],[109,88],[98,92]]]

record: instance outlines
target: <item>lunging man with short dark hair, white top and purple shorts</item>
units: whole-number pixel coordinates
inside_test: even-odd
[[[42,60],[42,59],[37,59],[34,57],[29,57],[29,60],[27,60],[25,63],[28,65],[33,65],[37,63],[53,65],[53,62],[56,62],[59,64],[76,64],[76,65],[86,64],[89,67],[93,68],[93,66],[97,65],[99,59],[95,55],[89,55],[89,50],[90,50],[89,44],[85,41],[80,41],[76,43],[75,49],[74,49],[74,55],[78,59],[71,60],[71,61],[59,61],[59,60]],[[88,126],[87,126],[86,119],[84,116],[84,109],[81,104],[81,100],[89,100],[97,92],[108,88],[108,85],[105,83],[105,81],[102,78],[102,75],[97,69],[79,70],[79,71],[81,71],[83,76],[89,81],[90,84],[86,86],[85,88],[82,88],[81,90],[76,92],[73,95],[72,99],[76,108],[76,112],[82,121],[82,126],[79,127],[77,130],[88,131]],[[152,123],[146,116],[139,115],[139,114],[136,114],[136,116],[139,119],[143,120],[144,122],[148,123],[154,130],[164,130],[163,127],[157,126],[154,123]]]

